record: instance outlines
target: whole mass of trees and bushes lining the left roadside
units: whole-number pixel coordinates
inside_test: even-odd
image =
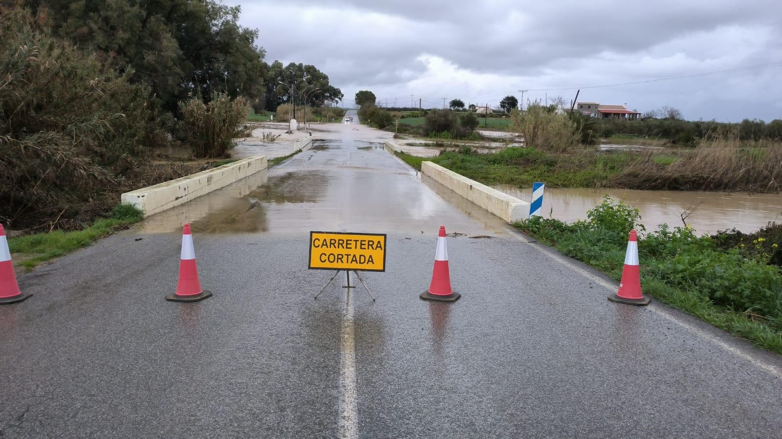
[[[314,66],[264,62],[239,12],[216,0],[0,3],[0,221],[78,218],[156,146],[225,157],[249,104],[287,89],[342,97]]]

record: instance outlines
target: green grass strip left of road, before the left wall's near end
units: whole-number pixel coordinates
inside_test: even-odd
[[[48,233],[13,237],[9,239],[8,246],[12,253],[23,255],[23,260],[18,262],[18,265],[32,269],[41,262],[86,247],[116,230],[138,223],[143,217],[144,212],[134,205],[120,204],[109,213],[109,216],[96,220],[82,230],[70,232],[53,230]]]

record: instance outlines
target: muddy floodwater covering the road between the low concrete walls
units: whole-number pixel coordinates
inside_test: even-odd
[[[452,231],[502,234],[493,227],[496,217],[439,184],[421,186],[421,179],[377,141],[317,141],[313,150],[149,216],[137,227],[140,233],[181,233],[182,223],[189,222],[196,234],[380,230],[418,235],[451,217]],[[459,210],[468,216],[454,216]]]

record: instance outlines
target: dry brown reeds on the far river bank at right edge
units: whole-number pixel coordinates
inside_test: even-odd
[[[668,166],[654,161],[657,154],[640,155],[630,162],[616,177],[615,184],[682,191],[782,189],[782,143],[778,141],[701,141],[691,153]]]

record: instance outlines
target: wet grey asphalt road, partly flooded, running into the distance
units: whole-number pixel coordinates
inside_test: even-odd
[[[0,308],[0,436],[779,437],[777,356],[608,302],[612,283],[371,135],[340,126],[20,276],[34,296]],[[196,304],[163,300],[185,220],[214,292]],[[448,238],[454,304],[418,299],[441,223],[467,234]],[[313,300],[332,273],[307,270],[310,230],[389,234],[386,273],[363,275],[377,302],[336,282]]]

